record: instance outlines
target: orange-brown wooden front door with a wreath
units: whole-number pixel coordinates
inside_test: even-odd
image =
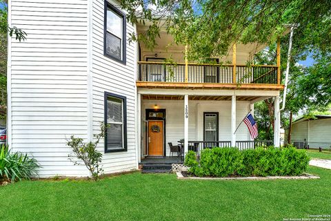
[[[163,155],[163,121],[148,121],[148,155]]]

